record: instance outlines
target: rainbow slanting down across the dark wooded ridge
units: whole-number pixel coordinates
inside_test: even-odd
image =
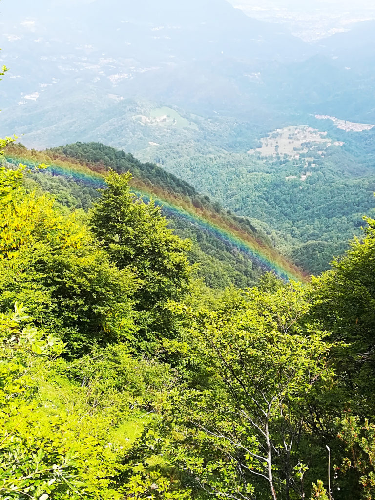
[[[72,159],[55,159],[48,156],[46,152],[29,151],[25,148],[16,150],[16,153],[5,154],[4,159],[14,164],[23,163],[30,168],[43,162],[49,165],[46,171],[50,175],[63,176],[94,188],[105,185],[106,170],[102,166],[83,165]],[[275,249],[256,239],[231,217],[218,214],[205,207],[196,207],[189,198],[171,194],[160,186],[149,186],[140,178],[133,177],[131,187],[143,198],[152,198],[155,203],[162,205],[163,210],[170,215],[182,217],[215,237],[234,245],[263,269],[272,269],[283,279],[307,280],[306,273],[281,256]]]

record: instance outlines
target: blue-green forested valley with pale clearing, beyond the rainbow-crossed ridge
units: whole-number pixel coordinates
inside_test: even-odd
[[[315,120],[313,126],[321,130],[321,124]],[[251,217],[257,227],[266,226],[281,252],[317,275],[329,267],[334,255],[346,250],[353,234],[359,234],[358,222],[363,213],[370,213],[375,190],[370,159],[373,132],[354,137],[328,125],[328,134],[345,146],[330,147],[320,155],[315,144],[299,158],[264,158],[245,153],[245,146],[235,152],[228,148],[201,154],[166,145],[158,148],[157,155],[147,151],[147,157],[233,214]],[[314,166],[307,164],[311,157]],[[306,171],[311,175],[301,180]]]

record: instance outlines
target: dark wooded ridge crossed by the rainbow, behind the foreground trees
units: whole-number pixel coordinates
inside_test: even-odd
[[[192,240],[189,258],[199,262],[197,275],[210,287],[249,286],[270,268],[277,272],[279,269],[281,275],[301,276],[301,270],[275,249],[282,246],[281,237],[266,224],[230,215],[188,183],[155,164],[141,163],[131,154],[99,143],[79,142],[44,152],[12,144],[6,158],[15,164],[19,161],[50,164],[48,169],[32,175],[29,182],[32,178],[60,204],[70,208],[87,209],[92,205],[98,196],[95,187],[104,182],[98,172],[105,173],[108,168],[118,173],[130,171],[130,183],[136,192],[144,199],[158,199],[169,227]],[[90,177],[91,173],[96,176]]]

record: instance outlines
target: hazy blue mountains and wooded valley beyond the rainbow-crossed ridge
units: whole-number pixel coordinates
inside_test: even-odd
[[[310,44],[224,0],[2,0],[0,10],[10,68],[0,136],[37,149],[97,141],[156,162],[236,215],[256,213],[281,246],[283,232],[285,254],[312,272],[358,233],[373,205],[373,130],[314,116],[375,124],[375,21]],[[342,146],[247,152],[291,125]]]

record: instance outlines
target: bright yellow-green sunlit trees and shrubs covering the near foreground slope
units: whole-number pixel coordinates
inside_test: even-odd
[[[49,154],[83,151],[145,167]],[[1,497],[372,498],[375,220],[308,284],[218,291],[129,173],[39,154],[0,168]]]

